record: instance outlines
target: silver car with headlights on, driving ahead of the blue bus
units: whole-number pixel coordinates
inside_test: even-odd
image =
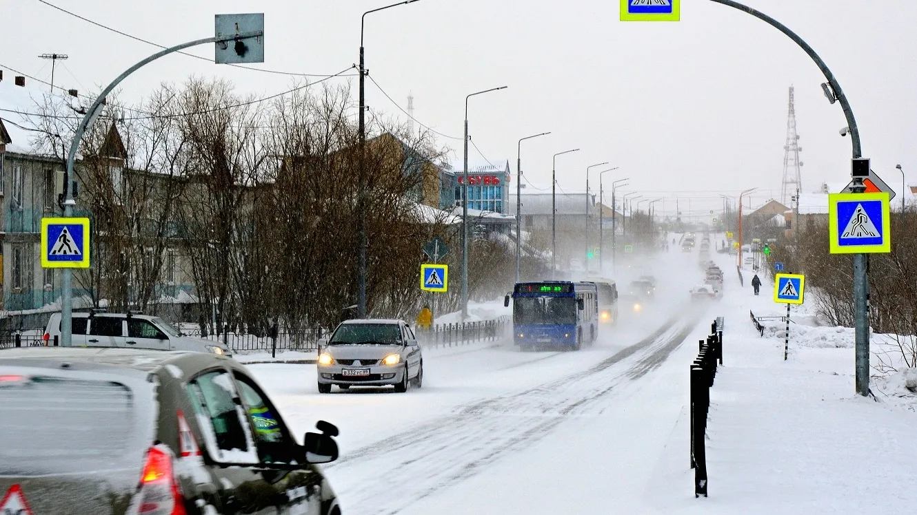
[[[319,343],[318,391],[331,386],[388,386],[407,391],[424,384],[424,356],[411,327],[402,320],[355,319],[340,323]]]

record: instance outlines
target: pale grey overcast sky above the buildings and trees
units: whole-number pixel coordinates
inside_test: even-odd
[[[361,14],[390,0],[50,3],[166,45],[212,36],[215,13],[263,10],[266,59],[256,66],[332,74],[359,59]],[[746,4],[794,30],[834,71],[873,170],[900,190],[900,163],[917,182],[917,2]],[[758,187],[755,203],[779,197],[790,84],[796,86],[803,190],[849,177],[850,137],[838,134],[844,115],[839,104],[828,104],[819,86],[823,76],[789,38],[708,0],[683,0],[676,23],[621,22],[618,8],[616,0],[420,0],[367,16],[367,68],[403,108],[414,93],[421,123],[457,137],[439,142],[454,149],[459,168],[465,96],[509,86],[471,99],[470,135],[487,160],[503,165],[509,159],[515,172],[517,140],[551,131],[523,143],[526,178],[541,188],[550,186],[552,154],[581,148],[558,157],[558,186],[566,192],[584,190],[587,165],[610,161],[620,169],[605,174],[606,185],[630,177],[627,190],[665,195],[667,211],[676,195],[693,196],[692,210],[722,205],[703,201],[715,192]],[[14,95],[9,68],[50,79],[50,61],[39,54],[69,55],[55,82],[87,91],[156,51],[39,0],[0,0],[0,13],[0,48],[6,50],[0,108]],[[212,58],[214,50],[208,45],[193,52]],[[191,74],[226,77],[239,92],[258,94],[282,92],[293,79],[172,55],[124,82],[122,97],[136,100],[158,82],[182,82]],[[356,101],[356,79],[333,81],[353,81]],[[367,84],[370,108],[406,121]],[[28,82],[27,89],[38,93],[47,86]],[[470,161],[485,163],[473,147]],[[597,174],[593,180],[595,192]]]

